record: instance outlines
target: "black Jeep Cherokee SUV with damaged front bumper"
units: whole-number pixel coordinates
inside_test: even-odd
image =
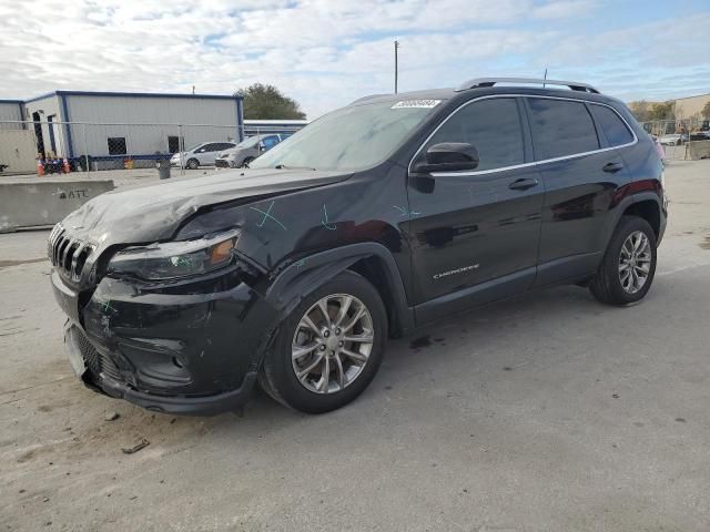
[[[235,409],[257,379],[324,412],[387,337],[473,306],[557,284],[638,301],[667,215],[653,144],[621,102],[538,82],[364,98],[248,170],[87,203],[49,239],[74,370],[162,412]]]

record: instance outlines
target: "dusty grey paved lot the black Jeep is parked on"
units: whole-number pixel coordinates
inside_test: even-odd
[[[642,304],[565,287],[470,311],[389,342],[369,390],[318,417],[85,389],[48,233],[0,235],[0,530],[710,530],[710,162],[672,162],[667,187]]]

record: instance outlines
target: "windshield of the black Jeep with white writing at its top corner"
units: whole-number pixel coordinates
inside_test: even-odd
[[[439,100],[352,105],[316,120],[250,163],[252,168],[362,170],[384,161]]]

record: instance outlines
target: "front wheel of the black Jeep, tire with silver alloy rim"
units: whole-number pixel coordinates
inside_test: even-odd
[[[352,301],[346,305],[347,297],[352,298]],[[329,329],[318,305],[323,300],[326,300],[331,318]],[[354,319],[361,305],[365,311],[359,318]],[[346,307],[346,313],[341,320],[344,327],[339,329],[336,325],[343,307]],[[320,335],[304,326],[304,317],[308,317],[321,330]],[[349,325],[349,320],[353,320],[354,325],[346,331],[345,327]],[[361,344],[347,340],[366,338],[371,336],[369,329],[372,341]],[[282,321],[264,357],[258,376],[260,383],[271,397],[295,410],[306,413],[335,410],[353,401],[373,380],[382,364],[386,338],[387,317],[379,294],[361,275],[343,272],[304,297]],[[337,347],[338,340],[343,348]],[[292,360],[294,348],[301,348],[304,355]],[[341,349],[353,356],[357,355],[357,358],[351,358],[349,355],[341,352]],[[307,371],[308,368],[312,370]],[[323,377],[326,368],[327,381]],[[302,371],[305,376],[298,378],[296,371]],[[316,380],[314,376],[320,378]],[[348,380],[349,378],[352,380]]]

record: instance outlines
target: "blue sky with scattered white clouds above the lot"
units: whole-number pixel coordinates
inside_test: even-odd
[[[710,93],[710,0],[0,0],[0,99],[53,90],[232,94],[276,85],[310,119],[470,78]]]

